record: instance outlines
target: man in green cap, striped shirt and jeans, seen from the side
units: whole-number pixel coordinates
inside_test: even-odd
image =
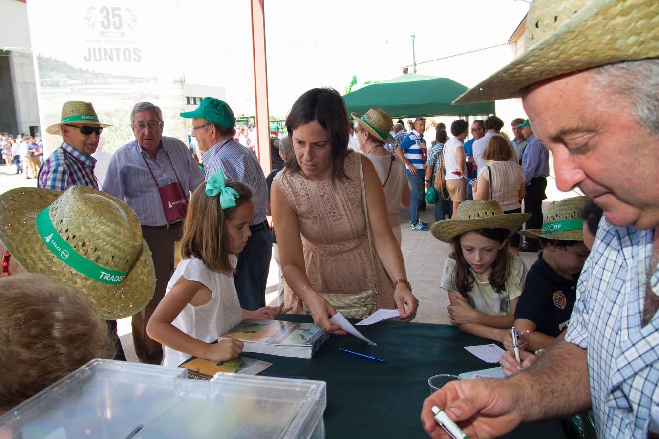
[[[238,257],[233,275],[241,307],[256,311],[266,306],[266,284],[272,257],[272,237],[266,221],[268,185],[254,151],[233,140],[236,118],[231,107],[214,97],[204,97],[199,107],[181,113],[192,119],[193,135],[199,142],[206,180],[221,170],[227,180],[252,188],[254,215],[249,223],[252,236]]]

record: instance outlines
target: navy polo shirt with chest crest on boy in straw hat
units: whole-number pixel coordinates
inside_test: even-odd
[[[577,301],[579,274],[575,274],[575,280],[567,280],[547,265],[540,252],[517,301],[515,320],[530,320],[536,324],[536,331],[557,337],[567,327]]]

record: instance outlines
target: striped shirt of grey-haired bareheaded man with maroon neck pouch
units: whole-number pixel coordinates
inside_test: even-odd
[[[177,181],[178,177],[183,193],[189,199],[189,192],[204,181],[204,173],[194,163],[194,157],[185,143],[165,136],[161,143],[162,148],[156,159],[150,158],[136,140],[123,145],[112,155],[103,181],[103,190],[129,205],[142,226],[167,224],[158,188]],[[144,160],[149,163],[158,185]]]

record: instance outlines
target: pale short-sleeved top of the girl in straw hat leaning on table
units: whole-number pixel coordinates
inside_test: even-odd
[[[476,311],[488,315],[509,315],[510,301],[517,299],[524,290],[524,282],[527,279],[527,267],[523,261],[515,255],[513,257],[512,269],[505,280],[505,291],[497,293],[490,285],[490,282],[480,282],[476,278],[473,269],[469,267],[474,276],[474,284],[470,292],[467,293],[467,301]],[[442,288],[459,294],[454,283],[455,259],[447,257],[444,261],[444,270],[442,271]]]

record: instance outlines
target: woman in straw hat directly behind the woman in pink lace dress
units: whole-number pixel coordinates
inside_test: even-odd
[[[355,137],[360,151],[373,162],[384,188],[387,201],[389,224],[393,235],[401,245],[401,222],[398,219],[401,206],[410,203],[410,189],[407,184],[405,165],[397,154],[391,154],[384,144],[395,145],[396,140],[389,134],[393,121],[389,113],[381,108],[369,109],[363,116],[351,113],[355,120]]]

